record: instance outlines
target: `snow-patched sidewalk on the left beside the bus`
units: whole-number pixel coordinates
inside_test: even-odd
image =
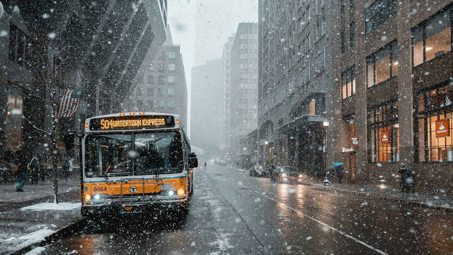
[[[53,180],[25,184],[0,184],[0,255],[44,240],[62,226],[82,219],[80,177],[58,181],[59,205],[53,203]]]

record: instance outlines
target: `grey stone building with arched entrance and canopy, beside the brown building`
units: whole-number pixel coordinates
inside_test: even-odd
[[[257,161],[263,166],[324,173],[322,122],[332,122],[333,114],[332,10],[326,0],[259,3]]]

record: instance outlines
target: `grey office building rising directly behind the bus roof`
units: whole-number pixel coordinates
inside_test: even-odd
[[[157,56],[149,54],[143,61],[124,111],[177,114],[187,126],[187,84],[180,49],[167,26],[167,40]]]

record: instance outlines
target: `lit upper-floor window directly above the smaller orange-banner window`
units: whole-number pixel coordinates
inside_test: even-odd
[[[377,50],[366,58],[368,88],[398,74],[398,42]]]

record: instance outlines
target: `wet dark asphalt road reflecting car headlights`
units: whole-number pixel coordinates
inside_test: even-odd
[[[194,172],[185,221],[166,213],[93,219],[45,254],[453,254],[453,213],[229,167]],[[178,222],[182,222],[178,224]]]

